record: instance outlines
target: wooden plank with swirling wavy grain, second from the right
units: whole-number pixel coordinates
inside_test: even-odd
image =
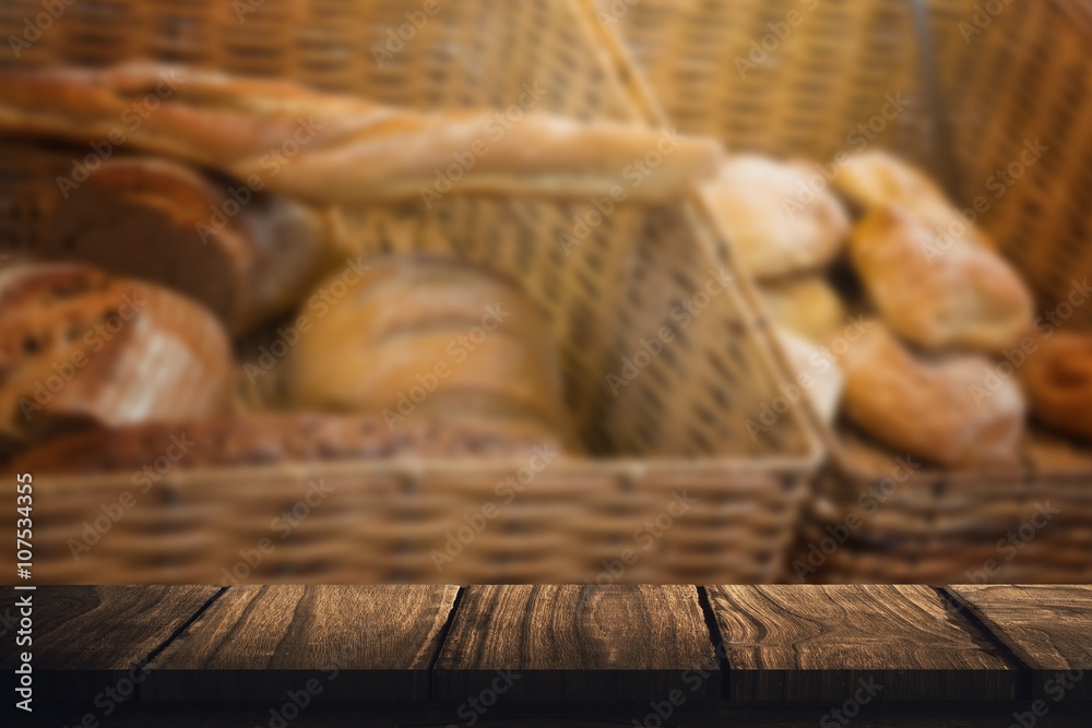
[[[1011,701],[1016,660],[927,586],[711,586],[737,701]]]

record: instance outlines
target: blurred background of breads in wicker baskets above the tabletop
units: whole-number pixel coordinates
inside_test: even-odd
[[[0,0],[0,36],[37,582],[1092,576],[1092,4]]]

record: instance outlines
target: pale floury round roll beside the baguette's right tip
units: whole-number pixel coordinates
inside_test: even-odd
[[[759,279],[822,267],[842,250],[850,219],[799,169],[753,155],[731,158],[705,194],[740,266]]]

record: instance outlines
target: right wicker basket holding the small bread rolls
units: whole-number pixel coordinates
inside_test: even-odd
[[[898,96],[903,110],[869,148],[933,169],[964,206],[990,195],[980,224],[1042,310],[1092,274],[1089,3],[600,0],[598,20],[680,130],[734,151],[832,160],[857,148],[853,130]],[[989,177],[1036,138],[1057,153],[995,200]],[[1066,325],[1092,327],[1092,306]],[[809,509],[795,578],[1092,577],[1088,447],[1033,431],[1016,469],[943,473],[901,466],[846,427],[827,435],[833,467]],[[882,502],[870,496],[878,488]],[[1057,511],[1049,521],[1038,513],[1047,503]]]

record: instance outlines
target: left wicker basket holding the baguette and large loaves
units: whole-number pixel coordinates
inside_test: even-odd
[[[604,28],[582,2],[252,4],[240,19],[236,12],[250,8],[246,2],[86,0],[68,5],[19,60],[7,48],[0,59],[165,59],[293,77],[420,108],[507,108],[537,80],[549,89],[544,110],[655,118],[648,97],[630,83],[631,70],[605,52]],[[22,33],[24,17],[36,10],[31,2],[0,1],[0,35]],[[424,11],[426,20],[415,23]],[[405,39],[388,46],[391,34]],[[70,170],[74,154],[4,144],[0,244],[31,246],[62,214],[54,179]],[[796,413],[757,439],[744,430],[784,377],[740,291],[728,285],[688,326],[676,325],[678,339],[617,396],[606,380],[624,357],[641,350],[642,338],[673,325],[673,307],[728,265],[717,253],[723,246],[689,204],[622,205],[566,255],[558,237],[572,236],[575,218],[587,219],[592,211],[591,201],[450,195],[428,214],[410,204],[348,211],[348,218],[367,253],[448,248],[522,281],[549,312],[566,403],[594,456],[557,460],[538,473],[529,463],[401,461],[173,473],[146,492],[129,477],[41,479],[34,503],[35,580],[783,577],[821,447]],[[525,489],[508,503],[498,484],[512,477],[522,482],[521,468]],[[284,518],[276,523],[284,512],[302,513],[312,487],[323,494],[312,497],[319,502],[306,517],[288,521],[287,529]],[[127,492],[138,506],[114,523],[107,511]],[[480,517],[487,509],[494,515]]]

